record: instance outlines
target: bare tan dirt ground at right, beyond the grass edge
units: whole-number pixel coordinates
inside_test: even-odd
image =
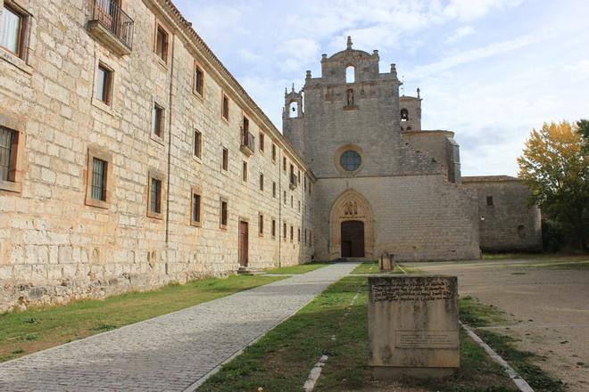
[[[544,356],[537,364],[589,390],[589,270],[541,269],[538,260],[407,263],[428,274],[458,276],[460,296],[470,295],[506,312],[494,331],[521,339],[518,348]]]

